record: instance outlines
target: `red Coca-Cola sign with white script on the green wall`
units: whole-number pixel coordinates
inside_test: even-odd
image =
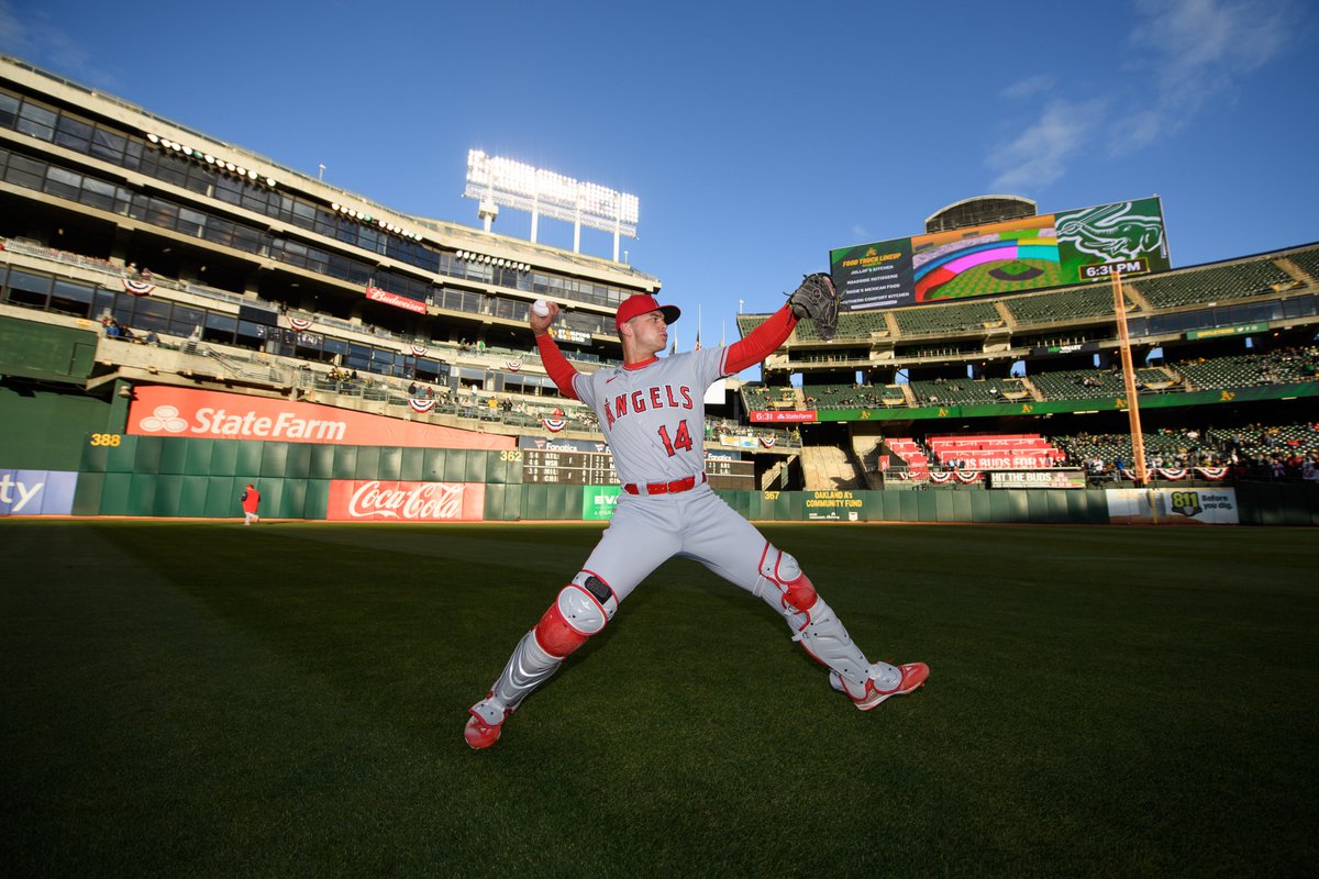
[[[326,518],[332,522],[480,522],[480,482],[334,480]]]

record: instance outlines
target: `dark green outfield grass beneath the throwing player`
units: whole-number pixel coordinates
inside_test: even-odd
[[[1314,875],[1314,530],[764,531],[929,685],[674,560],[474,752],[599,527],[3,521],[7,872]]]

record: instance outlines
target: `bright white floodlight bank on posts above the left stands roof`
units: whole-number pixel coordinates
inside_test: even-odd
[[[532,215],[532,241],[537,239],[539,217],[572,224],[572,252],[582,252],[582,227],[613,233],[613,261],[619,261],[619,239],[637,237],[640,200],[599,183],[586,183],[510,158],[467,152],[464,198],[476,199],[485,231],[499,215],[499,206]]]

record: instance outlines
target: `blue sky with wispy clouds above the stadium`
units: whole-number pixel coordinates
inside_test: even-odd
[[[975,195],[1159,195],[1173,265],[1319,240],[1308,0],[0,0],[0,51],[389,207],[479,225],[483,149],[636,194],[628,260],[736,337],[828,250]],[[528,237],[505,210],[495,231]],[[571,248],[571,225],[539,237]],[[612,237],[583,231],[608,257]]]

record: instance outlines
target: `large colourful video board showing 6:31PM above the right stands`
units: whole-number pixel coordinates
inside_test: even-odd
[[[844,311],[1042,290],[1166,271],[1157,196],[830,250]]]

